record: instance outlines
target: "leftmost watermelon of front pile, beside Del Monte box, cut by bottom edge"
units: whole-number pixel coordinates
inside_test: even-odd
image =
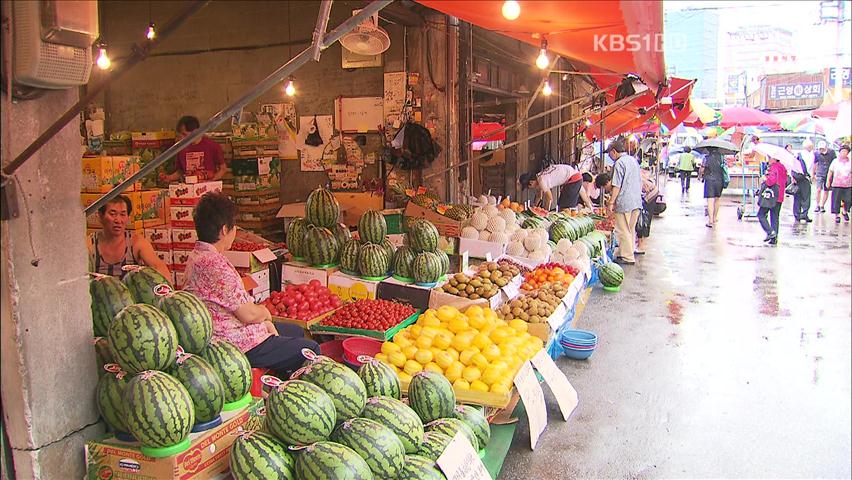
[[[287,447],[263,432],[244,433],[231,445],[234,480],[296,480],[296,460]]]

